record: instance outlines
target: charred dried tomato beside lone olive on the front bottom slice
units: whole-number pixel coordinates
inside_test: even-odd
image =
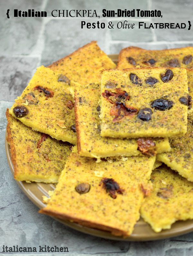
[[[116,198],[116,194],[115,192],[117,192],[118,194],[123,194],[124,189],[119,187],[119,184],[112,178],[103,178],[100,183],[99,186],[103,183],[103,188],[106,189],[106,192],[109,192],[109,195],[115,199]]]

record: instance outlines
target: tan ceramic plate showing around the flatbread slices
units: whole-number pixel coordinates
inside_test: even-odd
[[[118,58],[118,55],[117,54],[109,55],[109,57],[113,61],[116,61]],[[6,136],[7,136],[7,132],[5,134],[5,151],[6,151],[7,161],[14,175],[14,166],[11,161],[10,146],[6,141]],[[53,184],[35,183],[35,182],[26,183],[24,181],[17,181],[17,183],[20,186],[20,188],[23,190],[23,192],[29,197],[29,199],[39,208],[42,208],[45,206],[45,204],[42,203],[41,201],[42,195],[48,196],[48,191],[53,190],[55,188]],[[130,237],[127,237],[124,239],[123,237],[114,236],[110,232],[87,228],[87,227],[78,225],[76,223],[71,223],[69,221],[61,220],[58,218],[54,218],[54,219],[60,221],[61,223],[73,229],[76,229],[78,231],[81,231],[90,235],[107,238],[107,239],[113,239],[113,240],[122,240],[122,241],[157,240],[157,239],[168,238],[168,237],[177,236],[177,235],[181,235],[181,234],[185,234],[193,231],[193,220],[188,220],[188,221],[178,221],[172,225],[170,230],[164,230],[159,233],[155,233],[151,229],[150,225],[144,222],[140,218],[140,220],[136,223],[134,227],[133,234]]]

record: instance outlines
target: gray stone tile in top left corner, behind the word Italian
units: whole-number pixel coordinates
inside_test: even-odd
[[[0,23],[4,24],[0,30],[1,52],[8,56],[13,54],[26,55],[32,52],[41,29],[42,20],[36,17],[14,17],[14,9],[22,11],[28,9],[40,10],[41,4],[42,0],[1,1]],[[9,19],[6,16],[7,9],[10,9]]]

